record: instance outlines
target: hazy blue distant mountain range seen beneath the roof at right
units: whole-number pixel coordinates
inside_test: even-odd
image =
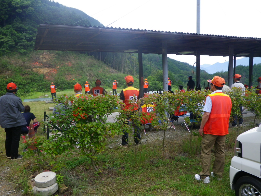
[[[261,63],[261,57],[255,57],[253,59],[253,64],[259,64],[259,63]],[[236,66],[238,66],[238,65],[248,66],[249,58],[245,57],[245,58],[236,60]],[[223,63],[215,63],[213,65],[203,64],[203,65],[200,65],[200,69],[205,70],[207,73],[210,73],[210,74],[216,73],[218,71],[228,71],[228,61],[223,62]]]

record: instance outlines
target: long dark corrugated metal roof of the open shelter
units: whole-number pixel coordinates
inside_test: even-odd
[[[140,30],[96,26],[41,24],[36,36],[36,50],[71,50],[100,52],[162,53],[167,43],[168,54],[228,56],[229,47],[237,56],[261,56],[261,38]]]

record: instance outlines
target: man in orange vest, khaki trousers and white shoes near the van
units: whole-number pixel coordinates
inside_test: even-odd
[[[228,95],[222,93],[224,78],[215,76],[211,83],[212,93],[207,95],[204,106],[199,134],[203,136],[201,141],[201,162],[202,171],[195,174],[196,180],[202,180],[209,183],[211,175],[221,179],[225,166],[225,141],[228,134],[229,117],[232,108],[232,102]],[[210,174],[211,149],[214,146],[215,160],[213,170]]]

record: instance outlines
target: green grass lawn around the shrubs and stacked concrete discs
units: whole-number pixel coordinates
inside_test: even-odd
[[[73,93],[73,91],[58,92],[57,96]],[[42,123],[44,111],[47,114],[52,111],[49,107],[54,103],[45,102],[26,102],[24,105],[31,107],[36,118]],[[251,117],[244,119],[245,126],[240,128],[240,133],[251,129],[248,124],[253,121]],[[246,123],[245,123],[246,122]],[[45,133],[38,129],[38,135]],[[198,131],[198,126],[194,129]],[[96,173],[92,168],[90,159],[84,155],[78,154],[79,149],[75,148],[73,156],[66,159],[66,168],[62,168],[60,173],[64,176],[64,183],[69,187],[65,195],[135,195],[135,196],[198,196],[198,195],[223,195],[233,196],[234,191],[230,189],[229,184],[229,166],[231,158],[234,156],[233,147],[236,139],[235,128],[230,128],[226,141],[226,163],[223,179],[218,181],[211,178],[209,184],[196,181],[194,175],[201,170],[201,160],[199,151],[195,155],[189,155],[184,152],[184,147],[188,145],[189,135],[184,127],[177,126],[168,130],[169,138],[165,141],[165,153],[162,153],[163,131],[148,132],[146,137],[153,137],[150,142],[142,142],[137,147],[137,158],[135,159],[133,148],[121,148],[118,146],[121,142],[121,136],[108,140],[108,145],[103,153],[98,154],[96,165],[100,170]],[[178,136],[177,136],[178,135]],[[145,137],[145,138],[146,138]],[[198,136],[193,136],[195,142]],[[133,142],[132,136],[129,140]],[[27,180],[31,175],[39,174],[46,170],[51,170],[45,160],[41,163],[30,162],[21,159],[15,162],[5,158],[5,132],[0,128],[0,168],[10,167],[7,179],[16,184],[17,190],[28,191]],[[19,153],[22,152],[23,144],[20,140]],[[22,154],[22,153],[21,153]],[[58,158],[59,161],[59,158]],[[213,155],[212,155],[213,163]],[[42,164],[42,170],[39,170],[39,164]],[[63,195],[63,194],[61,194]]]

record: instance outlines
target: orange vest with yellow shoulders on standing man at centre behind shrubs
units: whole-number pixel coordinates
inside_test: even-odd
[[[123,103],[125,103],[125,107],[123,108],[123,110],[134,111],[138,109],[137,99],[139,93],[140,93],[139,89],[136,89],[134,87],[128,87],[126,89],[123,89],[123,96],[124,96]]]

